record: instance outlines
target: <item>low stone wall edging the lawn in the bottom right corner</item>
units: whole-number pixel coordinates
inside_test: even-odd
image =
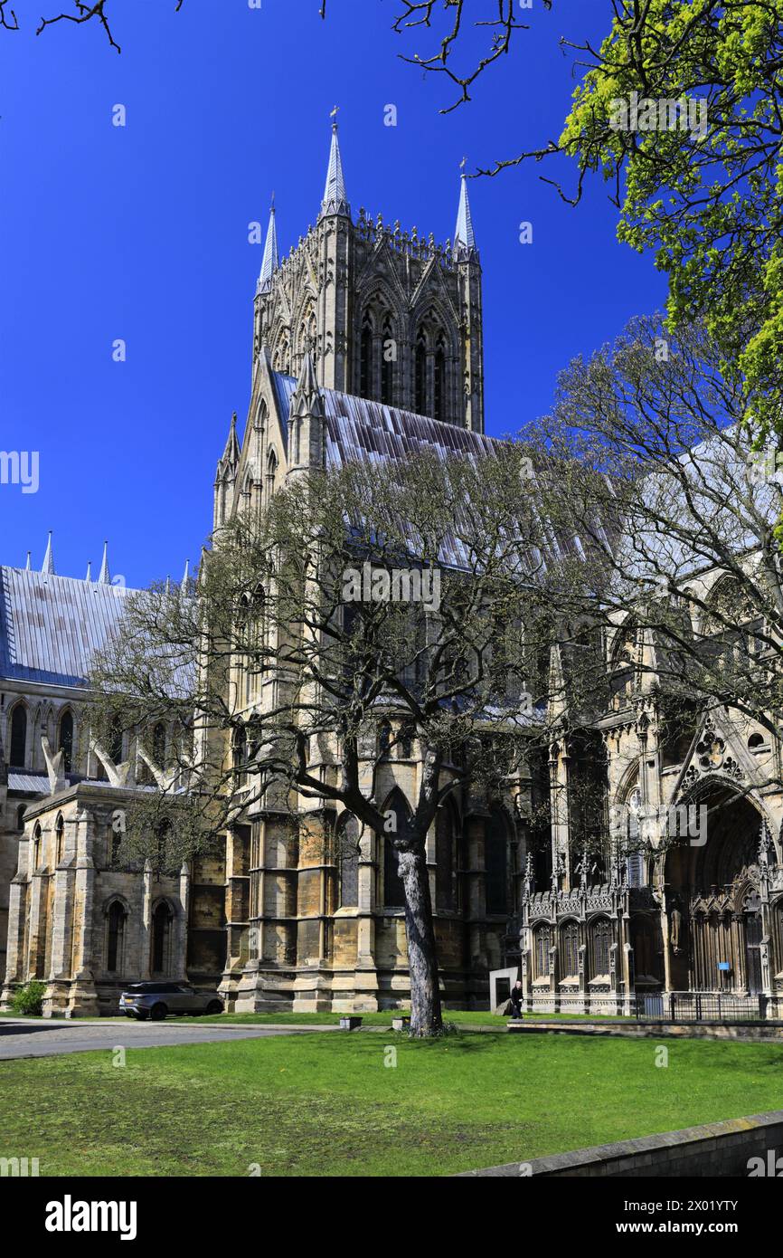
[[[757,1113],[749,1118],[708,1122],[701,1127],[686,1127],[684,1131],[665,1131],[659,1136],[642,1136],[640,1140],[622,1140],[616,1145],[577,1149],[572,1154],[534,1157],[527,1162],[490,1166],[481,1171],[463,1171],[455,1177],[488,1175],[506,1179],[529,1176],[745,1179],[749,1174],[749,1159],[760,1157],[767,1167],[770,1151],[774,1157],[779,1157],[783,1151],[783,1110]],[[783,1174],[783,1164],[779,1170]]]

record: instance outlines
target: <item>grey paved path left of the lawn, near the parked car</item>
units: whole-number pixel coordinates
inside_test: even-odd
[[[339,1030],[339,1027],[248,1025],[234,1023],[189,1025],[185,1019],[165,1023],[67,1020],[59,1018],[0,1018],[0,1060],[14,1057],[54,1057],[112,1048],[162,1048],[170,1044],[209,1044],[266,1035],[302,1035]]]

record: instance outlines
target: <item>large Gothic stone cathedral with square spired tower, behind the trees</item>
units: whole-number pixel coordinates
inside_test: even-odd
[[[270,214],[251,341],[246,418],[217,460],[215,531],[308,468],[486,454],[465,177],[451,239],[385,223],[351,206],[333,126],[315,223],[284,257]],[[706,603],[726,598],[725,577],[698,580]],[[3,1006],[38,979],[48,1015],[113,1014],[131,981],[190,977],[235,1010],[403,1008],[396,855],[375,835],[351,849],[348,814],[324,809],[314,827],[310,810],[305,842],[259,804],[176,874],[118,866],[117,818],[165,784],[173,737],[161,723],[141,750],[89,728],[90,655],[121,632],[128,593],[106,554],[97,579],[59,575],[52,538],[40,569],[0,569]],[[730,710],[666,723],[656,644],[632,624],[602,649],[611,699],[589,728],[520,756],[496,798],[457,790],[439,809],[427,866],[444,1003],[486,1008],[490,971],[509,969],[528,1010],[665,1015],[677,1003],[687,1014],[720,996],[780,1018],[783,794],[769,785],[780,745]],[[255,684],[249,715],[263,703]],[[387,811],[408,808],[422,770],[415,737],[395,740],[378,769]],[[578,820],[587,777],[603,793],[603,857],[588,857]],[[704,810],[706,830],[672,845],[689,809]]]

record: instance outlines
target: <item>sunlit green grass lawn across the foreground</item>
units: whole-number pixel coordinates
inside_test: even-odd
[[[783,1108],[783,1045],[666,1047],[666,1068],[651,1039],[470,1033],[9,1060],[0,1156],[41,1175],[446,1175]]]

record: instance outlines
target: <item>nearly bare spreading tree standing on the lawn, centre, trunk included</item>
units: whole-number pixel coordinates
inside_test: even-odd
[[[550,613],[576,577],[568,555],[544,557],[545,487],[528,464],[509,443],[479,463],[420,455],[293,481],[260,520],[217,533],[191,595],[128,600],[93,677],[97,720],[146,731],[194,715],[161,793],[128,819],[142,843],[160,799],[175,832],[185,810],[186,847],[264,809],[307,828],[327,805],[391,844],[417,1035],[441,1027],[436,811],[457,788],[500,798],[524,746],[547,742]],[[381,782],[400,742],[420,770],[410,809],[391,813]]]

